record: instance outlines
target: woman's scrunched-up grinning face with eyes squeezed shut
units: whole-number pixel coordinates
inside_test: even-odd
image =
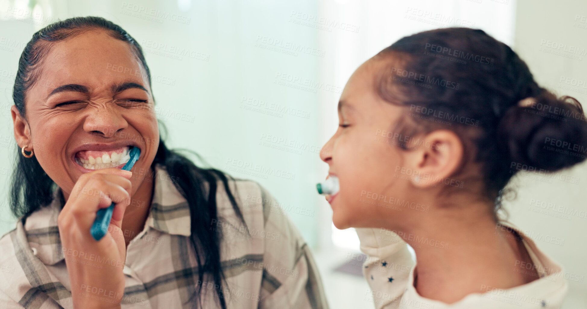
[[[12,108],[16,141],[21,147],[32,145],[39,164],[66,196],[80,175],[122,167],[129,146],[139,147],[131,180],[136,192],[159,141],[153,95],[140,60],[128,43],[99,30],[49,44],[33,70],[38,79],[25,93],[26,119]]]

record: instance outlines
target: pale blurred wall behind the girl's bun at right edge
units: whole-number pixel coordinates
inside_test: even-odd
[[[587,2],[518,0],[517,12],[514,50],[538,84],[587,107]],[[528,176],[516,182],[518,198],[507,207],[511,221],[565,267],[568,308],[587,308],[587,164]],[[572,179],[577,183],[565,181]]]

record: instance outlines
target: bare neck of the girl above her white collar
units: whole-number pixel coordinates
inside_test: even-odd
[[[516,271],[520,262],[531,263],[527,254],[497,227],[492,206],[480,204],[432,208],[417,225],[401,230],[416,252],[414,286],[420,296],[454,303],[471,293],[531,281]]]

